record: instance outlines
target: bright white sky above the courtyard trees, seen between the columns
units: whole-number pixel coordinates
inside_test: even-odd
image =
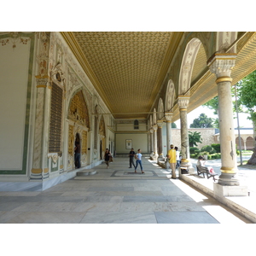
[[[213,113],[213,110],[206,107],[199,107],[195,108],[195,110],[188,113],[188,126],[193,123],[194,119],[199,118],[201,113],[206,113],[208,118],[217,119],[218,115]],[[234,113],[234,116],[236,117],[236,113]],[[248,114],[246,113],[238,113],[239,118],[239,125],[241,128],[252,128],[253,123],[251,120],[247,119]],[[177,128],[180,128],[180,119],[178,119],[175,124],[177,125]],[[234,119],[234,128],[237,127],[237,119]]]

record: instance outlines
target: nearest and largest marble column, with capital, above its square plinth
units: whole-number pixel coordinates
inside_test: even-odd
[[[235,54],[215,54],[208,61],[212,73],[216,74],[218,84],[218,119],[221,151],[221,175],[218,183],[222,185],[239,185],[236,177],[236,140],[233,124],[230,73],[235,66]]]

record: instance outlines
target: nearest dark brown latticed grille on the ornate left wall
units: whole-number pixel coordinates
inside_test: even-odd
[[[61,87],[54,84],[51,91],[50,123],[49,123],[49,152],[61,152],[61,120],[62,120]]]

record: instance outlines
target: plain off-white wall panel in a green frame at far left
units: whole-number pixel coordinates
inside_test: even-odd
[[[0,47],[0,170],[21,170],[30,44]]]

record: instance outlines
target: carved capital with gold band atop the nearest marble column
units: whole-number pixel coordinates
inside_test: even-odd
[[[230,78],[231,69],[235,67],[236,62],[236,54],[218,54],[215,53],[212,57],[207,61],[207,66],[210,68],[212,73],[215,73],[218,79],[224,79],[224,82],[227,81],[225,79]],[[229,80],[230,81],[230,80]]]

